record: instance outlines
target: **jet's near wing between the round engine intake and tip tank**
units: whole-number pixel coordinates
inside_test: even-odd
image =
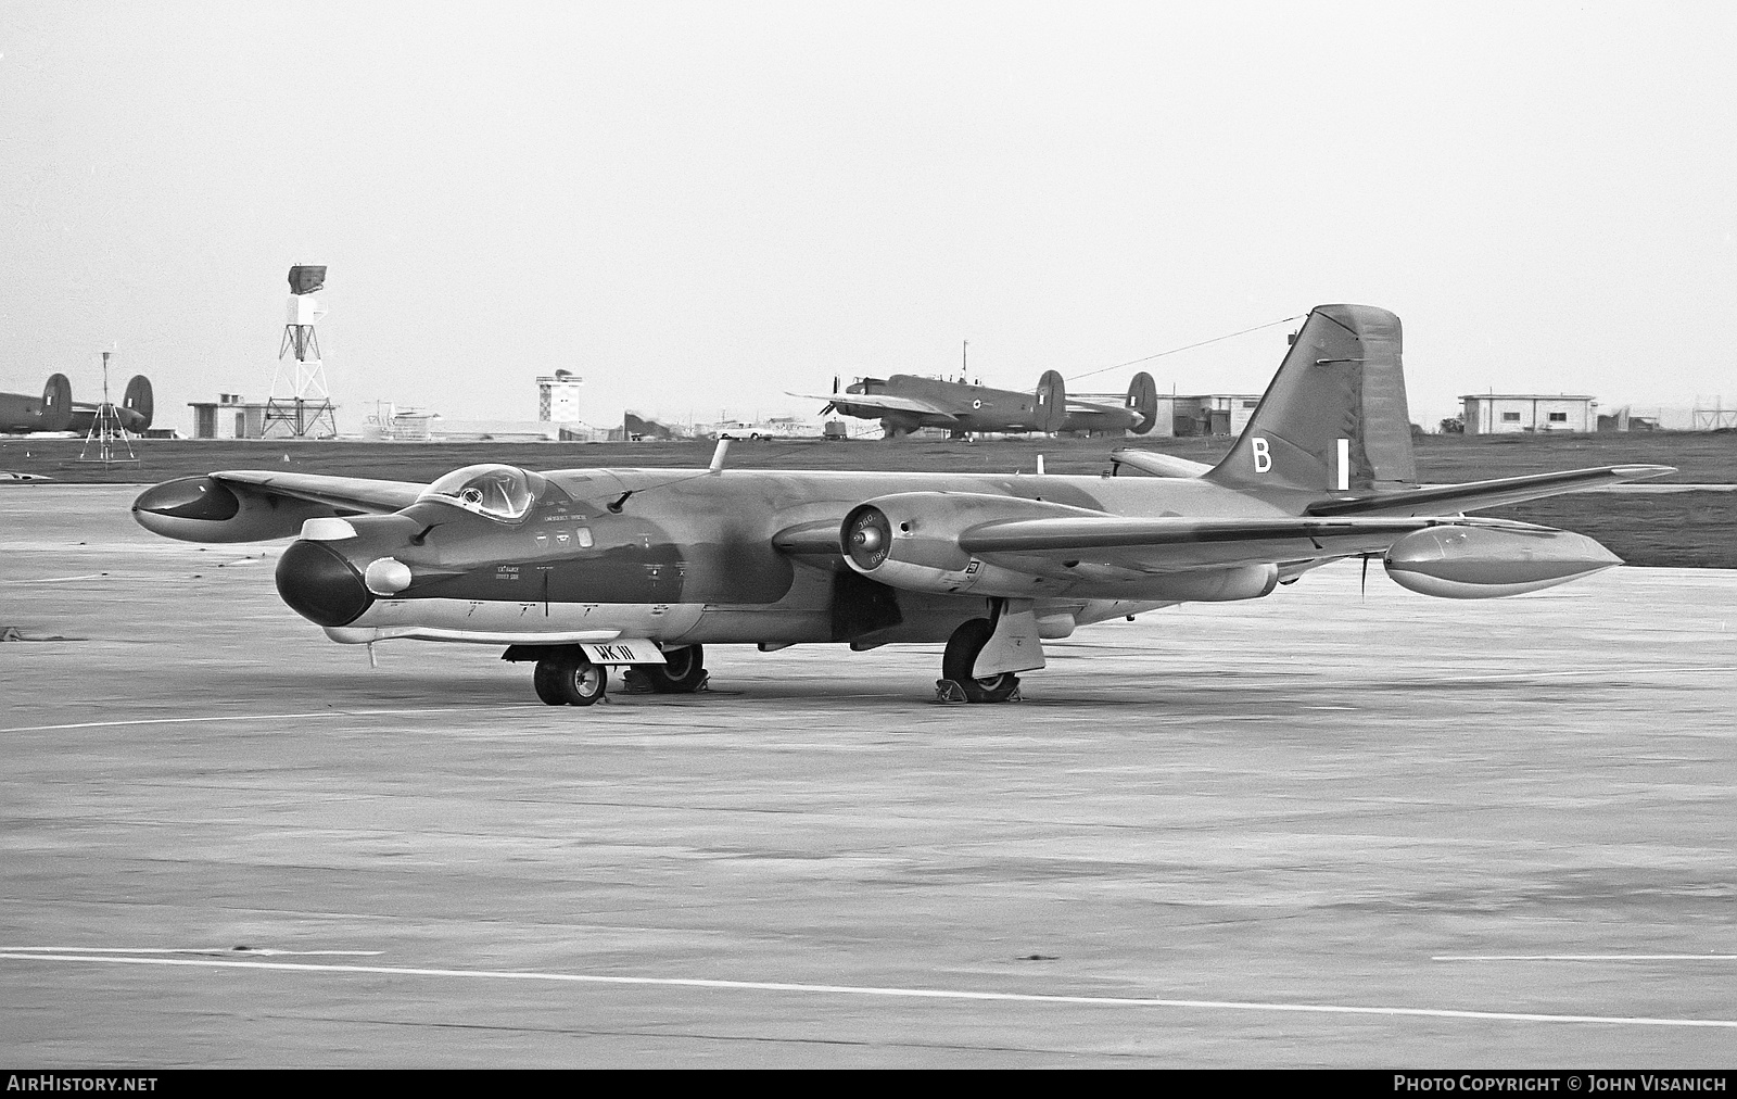
[[[1431,518],[1126,518],[1058,516],[990,522],[959,536],[959,548],[988,563],[1053,572],[1080,563],[1143,574],[1221,565],[1303,562],[1376,553]]]

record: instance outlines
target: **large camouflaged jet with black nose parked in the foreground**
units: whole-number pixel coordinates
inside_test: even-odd
[[[723,450],[721,450],[723,452]],[[721,456],[719,452],[719,456]],[[165,482],[146,529],[200,543],[299,532],[278,591],[342,643],[471,642],[535,661],[551,706],[610,666],[705,682],[702,645],[940,643],[940,690],[1013,696],[1044,642],[1172,603],[1273,595],[1383,555],[1423,595],[1487,598],[1621,563],[1589,537],[1464,511],[1669,473],[1603,466],[1417,485],[1400,322],[1320,306],[1216,466],[1157,476],[453,470],[431,485],[274,471]],[[1284,598],[1282,595],[1278,598]]]

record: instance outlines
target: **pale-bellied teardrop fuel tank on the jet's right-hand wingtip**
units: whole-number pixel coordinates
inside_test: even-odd
[[[1383,558],[1400,588],[1449,600],[1541,591],[1621,563],[1584,534],[1546,527],[1430,527]]]

